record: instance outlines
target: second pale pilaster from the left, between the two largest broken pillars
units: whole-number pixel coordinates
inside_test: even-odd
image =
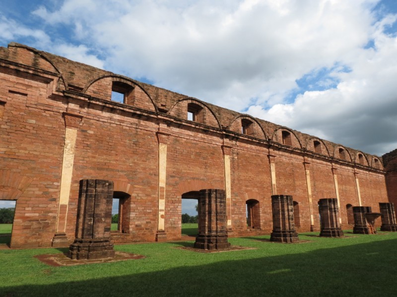
[[[169,134],[157,132],[158,138],[158,226],[156,241],[163,242],[167,240],[165,232],[165,185],[167,169],[167,145]]]

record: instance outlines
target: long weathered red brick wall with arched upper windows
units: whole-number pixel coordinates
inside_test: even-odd
[[[111,100],[120,83],[131,87],[127,104]],[[189,103],[201,107],[197,121],[187,120]],[[81,119],[67,124],[77,131],[67,204],[60,203],[65,114]],[[81,179],[114,182],[122,199],[118,242],[156,240],[159,189],[166,239],[180,239],[182,196],[226,190],[222,146],[230,147],[229,236],[270,233],[270,196],[278,193],[293,195],[299,232],[310,231],[311,214],[319,230],[318,201],[336,195],[333,173],[342,229],[351,228],[346,205],[359,205],[356,178],[362,205],[378,211],[379,202],[397,202],[396,153],[384,158],[386,174],[377,156],[18,44],[0,48],[0,127],[0,198],[17,200],[11,247],[48,247],[65,221],[61,235],[71,243]],[[169,135],[165,187],[159,186],[158,132]],[[247,201],[257,205],[254,229],[247,227]]]

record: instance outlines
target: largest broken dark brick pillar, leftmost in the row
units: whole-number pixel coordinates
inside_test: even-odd
[[[110,238],[113,182],[81,180],[76,238],[69,247],[72,259],[100,259],[115,255]]]

